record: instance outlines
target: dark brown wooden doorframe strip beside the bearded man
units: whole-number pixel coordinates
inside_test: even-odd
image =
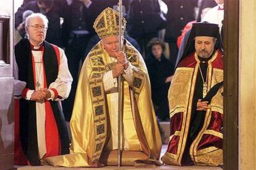
[[[224,0],[223,169],[238,169],[239,0]]]

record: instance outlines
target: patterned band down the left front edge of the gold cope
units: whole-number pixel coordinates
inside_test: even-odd
[[[92,73],[90,75],[90,94],[93,105],[93,119],[95,123],[95,146],[92,156],[92,161],[99,160],[103,146],[106,141],[106,104],[105,104],[105,92],[102,82],[102,76],[105,73],[105,61],[101,48],[94,47],[95,50],[90,52],[90,62],[92,65]],[[96,55],[100,54],[100,55]]]

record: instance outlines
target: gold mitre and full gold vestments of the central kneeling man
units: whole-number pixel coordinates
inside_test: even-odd
[[[94,28],[101,39],[118,36],[118,13],[107,8],[96,18]],[[125,19],[122,18],[125,29]],[[123,29],[123,31],[124,31]],[[122,32],[123,34],[124,32]],[[122,164],[158,164],[161,137],[151,102],[150,82],[142,55],[124,39],[127,70],[122,74]],[[53,166],[98,167],[116,165],[117,81],[112,71],[117,59],[98,42],[80,71],[70,120],[70,154],[46,158]],[[110,74],[109,74],[110,73]]]

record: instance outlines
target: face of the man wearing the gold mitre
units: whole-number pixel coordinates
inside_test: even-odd
[[[114,57],[114,53],[119,51],[119,36],[107,36],[101,40],[101,43],[110,57]]]

